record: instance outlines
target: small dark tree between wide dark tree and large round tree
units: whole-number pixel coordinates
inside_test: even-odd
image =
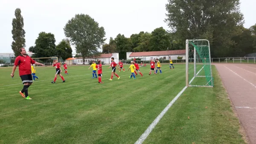
[[[56,51],[58,58],[62,58],[63,60],[72,58],[72,48],[69,40],[61,40],[61,42],[56,46]]]

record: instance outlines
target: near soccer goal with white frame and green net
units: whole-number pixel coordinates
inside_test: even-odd
[[[186,86],[213,87],[208,40],[186,40]]]

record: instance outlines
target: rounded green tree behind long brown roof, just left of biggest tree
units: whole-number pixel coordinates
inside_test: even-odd
[[[154,29],[149,42],[150,51],[164,51],[168,50],[171,45],[169,34],[163,27]]]

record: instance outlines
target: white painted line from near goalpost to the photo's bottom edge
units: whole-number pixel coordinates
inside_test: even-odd
[[[172,107],[172,104],[180,97],[180,95],[185,91],[187,86],[185,86],[172,101],[166,106],[166,108],[163,109],[163,111],[157,116],[157,118],[154,119],[154,121],[149,125],[147,130],[140,136],[140,138],[135,142],[135,144],[142,144],[143,141],[148,137],[150,132],[154,129],[154,127],[157,125],[157,123],[160,121],[160,119],[163,117],[163,115],[167,112],[167,110]]]

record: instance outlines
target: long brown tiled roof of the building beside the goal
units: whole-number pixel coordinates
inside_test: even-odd
[[[154,52],[132,52],[129,57],[142,57],[142,56],[160,56],[160,55],[185,55],[186,49],[172,50],[172,51],[154,51]]]

